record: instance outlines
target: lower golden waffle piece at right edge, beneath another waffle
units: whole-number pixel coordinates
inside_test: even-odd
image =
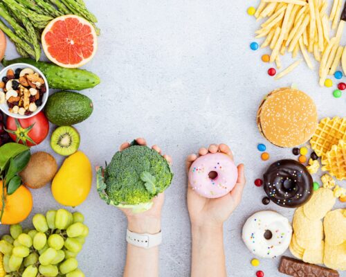
[[[322,170],[329,171],[338,180],[346,180],[346,141],[340,139],[338,145],[322,157]]]

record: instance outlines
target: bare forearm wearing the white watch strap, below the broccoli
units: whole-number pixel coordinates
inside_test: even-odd
[[[156,234],[161,231],[161,222],[157,219],[129,220],[129,231]],[[127,257],[124,277],[158,276],[158,247],[143,249],[127,244]]]

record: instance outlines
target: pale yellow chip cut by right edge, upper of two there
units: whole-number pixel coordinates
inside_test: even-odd
[[[346,211],[346,210],[345,210]],[[346,240],[346,214],[344,210],[331,211],[323,221],[325,227],[325,241],[329,245],[342,244]]]

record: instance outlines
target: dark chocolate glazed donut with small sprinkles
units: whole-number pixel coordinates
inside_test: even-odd
[[[264,173],[264,191],[275,204],[296,208],[309,201],[313,180],[298,161],[275,161]]]

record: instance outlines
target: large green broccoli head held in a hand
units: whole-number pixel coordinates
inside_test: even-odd
[[[147,210],[152,198],[168,188],[172,178],[170,165],[158,152],[133,145],[113,156],[103,180],[98,176],[98,182],[102,182],[98,189],[109,204],[122,207],[142,204],[139,210]]]

